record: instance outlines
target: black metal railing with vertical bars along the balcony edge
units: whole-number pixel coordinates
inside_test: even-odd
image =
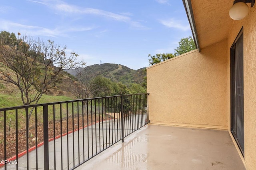
[[[74,169],[149,123],[148,93],[2,108],[0,118],[0,169]]]

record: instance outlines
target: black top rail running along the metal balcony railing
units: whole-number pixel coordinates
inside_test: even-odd
[[[58,102],[41,103],[41,104],[35,104],[35,105],[4,107],[4,108],[0,108],[0,111],[9,111],[9,110],[14,110],[14,109],[25,109],[25,108],[39,107],[39,106],[45,106],[45,105],[57,105],[57,104],[62,104],[62,103],[90,101],[90,100],[94,100],[94,99],[105,99],[105,98],[111,98],[111,97],[132,96],[132,95],[145,95],[145,94],[149,95],[149,93],[137,93],[137,94],[128,94],[128,95],[114,95],[114,96],[104,96],[104,97],[93,97],[93,98],[88,98],[88,99],[76,99],[76,100],[69,100],[69,101],[58,101]]]

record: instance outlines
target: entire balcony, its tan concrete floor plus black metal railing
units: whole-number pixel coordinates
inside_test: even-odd
[[[26,128],[26,147],[21,154],[19,148],[22,146],[17,140],[19,116],[14,121],[15,127],[8,126],[7,118],[13,113],[21,114],[22,110],[29,113],[31,108],[34,108],[34,117],[31,116],[30,121],[43,115],[44,142],[35,141],[35,146],[30,147],[30,134],[35,134],[36,138],[40,136],[37,128],[32,128],[39,127],[39,123],[38,120],[34,125],[26,123],[30,128]],[[0,169],[245,169],[226,130],[148,124],[148,94],[47,103],[0,111],[6,136],[4,158],[1,159],[9,161]],[[71,130],[66,128],[70,121]],[[60,132],[57,132],[58,124]],[[9,129],[16,138],[8,138]],[[11,148],[16,150],[12,158],[7,149],[11,142],[16,146]]]

